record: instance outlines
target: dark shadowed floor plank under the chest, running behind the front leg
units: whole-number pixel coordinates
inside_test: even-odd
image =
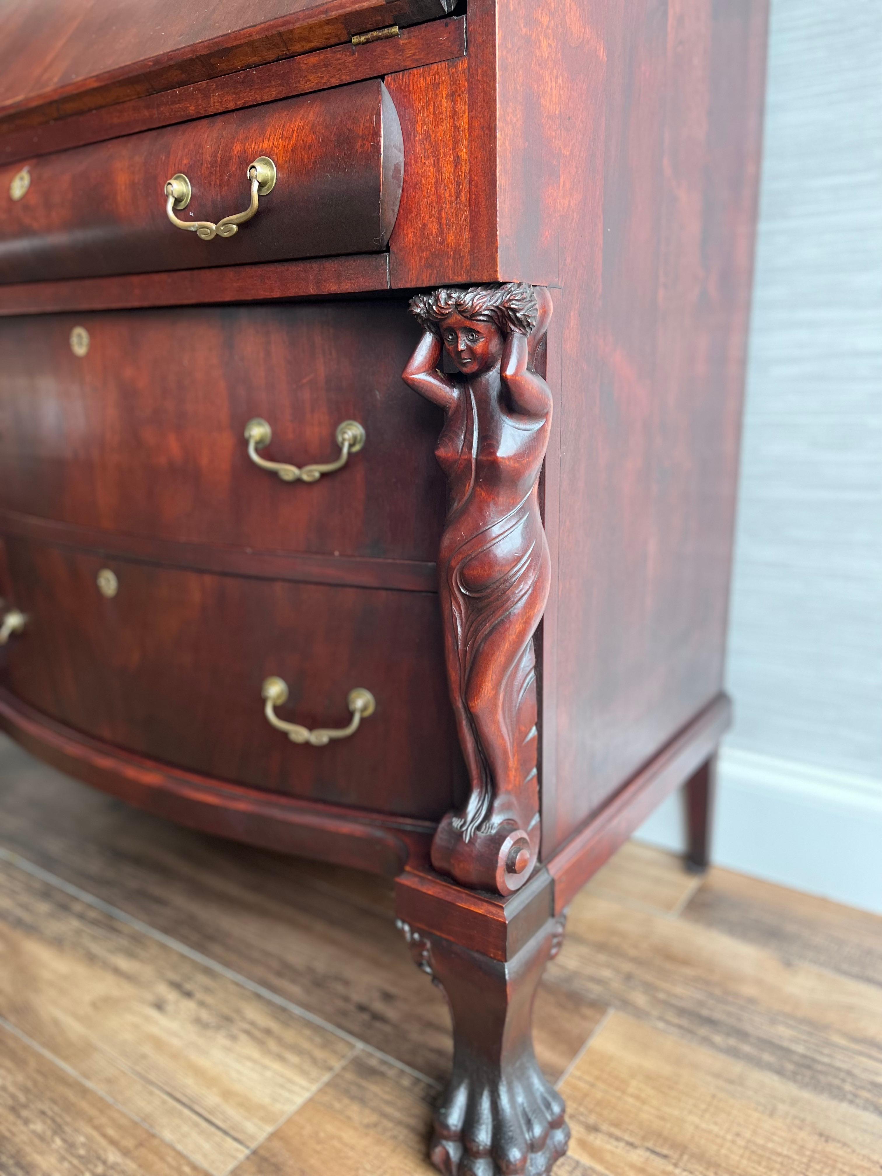
[[[253,850],[138,813],[0,736],[5,844],[441,1082],[450,1021],[394,926],[389,881]],[[295,898],[296,896],[296,898]],[[540,989],[536,1055],[559,1077],[603,1008]]]

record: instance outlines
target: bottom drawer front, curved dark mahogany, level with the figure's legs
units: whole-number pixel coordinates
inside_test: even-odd
[[[27,615],[7,647],[12,689],[76,730],[270,791],[436,818],[465,767],[447,699],[437,599],[202,575],[7,540]],[[98,574],[116,577],[105,596]],[[112,590],[107,589],[106,590]],[[350,690],[376,709],[347,739],[298,746],[263,714],[345,728]]]

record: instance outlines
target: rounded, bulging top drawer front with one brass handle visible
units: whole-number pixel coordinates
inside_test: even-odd
[[[178,174],[192,191],[174,209],[185,223],[250,208],[260,156],[275,183],[233,234],[202,240],[169,221]],[[59,152],[0,169],[0,282],[379,252],[402,178],[401,126],[377,80]]]

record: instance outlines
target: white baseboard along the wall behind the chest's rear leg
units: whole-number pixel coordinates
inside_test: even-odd
[[[669,797],[636,836],[682,851],[682,799]],[[723,748],[713,860],[882,914],[882,781]]]

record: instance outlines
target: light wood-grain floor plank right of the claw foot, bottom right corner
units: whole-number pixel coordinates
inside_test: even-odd
[[[562,1094],[573,1156],[609,1176],[878,1176],[877,1112],[830,1103],[621,1013]]]

